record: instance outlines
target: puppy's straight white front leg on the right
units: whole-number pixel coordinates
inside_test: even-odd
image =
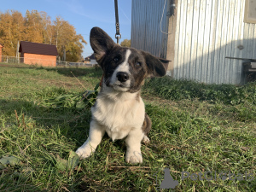
[[[142,163],[143,155],[141,152],[141,142],[143,140],[144,134],[141,129],[132,130],[129,132],[125,139],[127,146],[125,161],[127,163]]]

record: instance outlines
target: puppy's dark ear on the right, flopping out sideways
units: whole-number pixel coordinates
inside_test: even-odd
[[[154,55],[142,51],[148,66],[148,77],[162,77],[166,75],[166,67]]]

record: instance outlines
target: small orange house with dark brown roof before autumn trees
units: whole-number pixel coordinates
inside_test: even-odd
[[[41,65],[44,67],[55,67],[57,48],[52,44],[38,44],[20,41],[21,62],[28,65]]]

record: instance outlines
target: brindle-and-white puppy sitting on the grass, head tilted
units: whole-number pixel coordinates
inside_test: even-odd
[[[98,27],[90,31],[90,45],[103,70],[102,88],[91,108],[89,137],[76,153],[89,157],[107,132],[113,141],[125,138],[127,163],[142,163],[141,142],[149,142],[151,120],[140,90],[145,78],[164,76],[166,68],[149,53],[115,44]]]

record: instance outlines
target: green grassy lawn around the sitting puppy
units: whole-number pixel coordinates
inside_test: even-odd
[[[95,68],[0,67],[1,191],[156,191],[164,168],[179,183],[175,191],[255,191],[255,83],[147,80],[142,95],[153,128],[143,164],[125,163],[124,141],[108,136],[89,159],[76,161],[90,108],[75,108],[72,96],[93,90],[101,75]],[[61,95],[72,96],[55,104]],[[182,172],[254,179],[182,180]]]

